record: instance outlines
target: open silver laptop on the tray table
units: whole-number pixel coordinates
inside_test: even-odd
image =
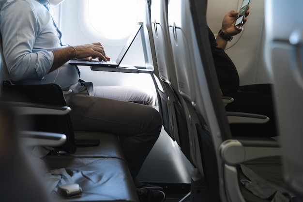
[[[134,42],[136,35],[139,33],[142,25],[136,25],[134,31],[131,33],[129,38],[126,41],[126,44],[122,48],[116,61],[82,61],[82,60],[70,60],[69,64],[71,65],[85,65],[85,66],[98,66],[98,67],[118,67],[127,53],[129,47]]]

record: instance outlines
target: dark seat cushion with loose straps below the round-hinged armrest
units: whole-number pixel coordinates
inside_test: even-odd
[[[282,178],[280,157],[256,159],[239,165],[242,192],[247,202],[294,202]]]

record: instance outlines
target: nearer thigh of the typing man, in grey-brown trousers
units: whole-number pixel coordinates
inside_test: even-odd
[[[72,96],[68,106],[71,107],[70,115],[75,130],[130,136],[142,132],[152,119],[159,119],[158,111],[150,106],[85,94]]]

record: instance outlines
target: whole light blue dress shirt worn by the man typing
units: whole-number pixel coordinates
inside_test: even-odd
[[[78,82],[76,66],[68,63],[47,74],[61,48],[52,16],[36,0],[0,0],[2,48],[10,77],[18,84],[57,83],[69,87]]]

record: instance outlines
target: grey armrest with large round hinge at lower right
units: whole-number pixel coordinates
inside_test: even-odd
[[[224,162],[230,166],[256,158],[282,155],[280,145],[274,140],[226,140],[219,150]]]

